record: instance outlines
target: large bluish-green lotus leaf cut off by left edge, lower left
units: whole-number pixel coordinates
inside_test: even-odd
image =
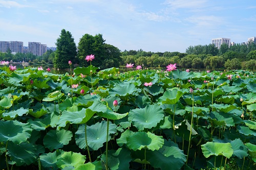
[[[31,136],[32,129],[29,123],[23,124],[17,120],[3,122],[0,120],[0,141],[22,143]]]

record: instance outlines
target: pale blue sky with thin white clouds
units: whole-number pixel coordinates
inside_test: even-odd
[[[75,43],[102,34],[124,50],[185,52],[213,38],[256,36],[255,0],[0,0],[0,41],[55,46],[62,29]]]

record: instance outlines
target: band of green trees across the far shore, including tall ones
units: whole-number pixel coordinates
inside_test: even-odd
[[[56,40],[57,50],[47,51],[42,56],[31,53],[15,55],[0,53],[0,60],[40,62],[42,64],[53,64],[55,68],[69,68],[68,61],[77,63],[79,66],[88,66],[89,62],[84,60],[87,55],[95,55],[93,65],[100,69],[124,66],[126,63],[134,63],[144,67],[165,67],[170,63],[178,63],[182,68],[195,69],[250,69],[256,68],[256,43],[238,43],[231,46],[222,44],[220,48],[214,44],[195,45],[186,48],[185,53],[180,52],[145,52],[143,50],[124,50],[105,43],[102,34],[95,36],[84,34],[76,46],[74,38],[69,31],[61,30]]]

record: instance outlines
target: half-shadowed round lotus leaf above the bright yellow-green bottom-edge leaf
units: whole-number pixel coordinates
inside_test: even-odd
[[[60,131],[50,130],[44,137],[44,145],[49,148],[50,151],[62,148],[63,145],[69,144],[72,138],[72,132],[61,129]]]

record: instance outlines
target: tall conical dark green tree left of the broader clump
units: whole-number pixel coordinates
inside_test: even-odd
[[[57,50],[54,57],[54,67],[63,69],[69,67],[69,60],[76,62],[76,44],[69,31],[61,30],[60,36],[55,43]]]

